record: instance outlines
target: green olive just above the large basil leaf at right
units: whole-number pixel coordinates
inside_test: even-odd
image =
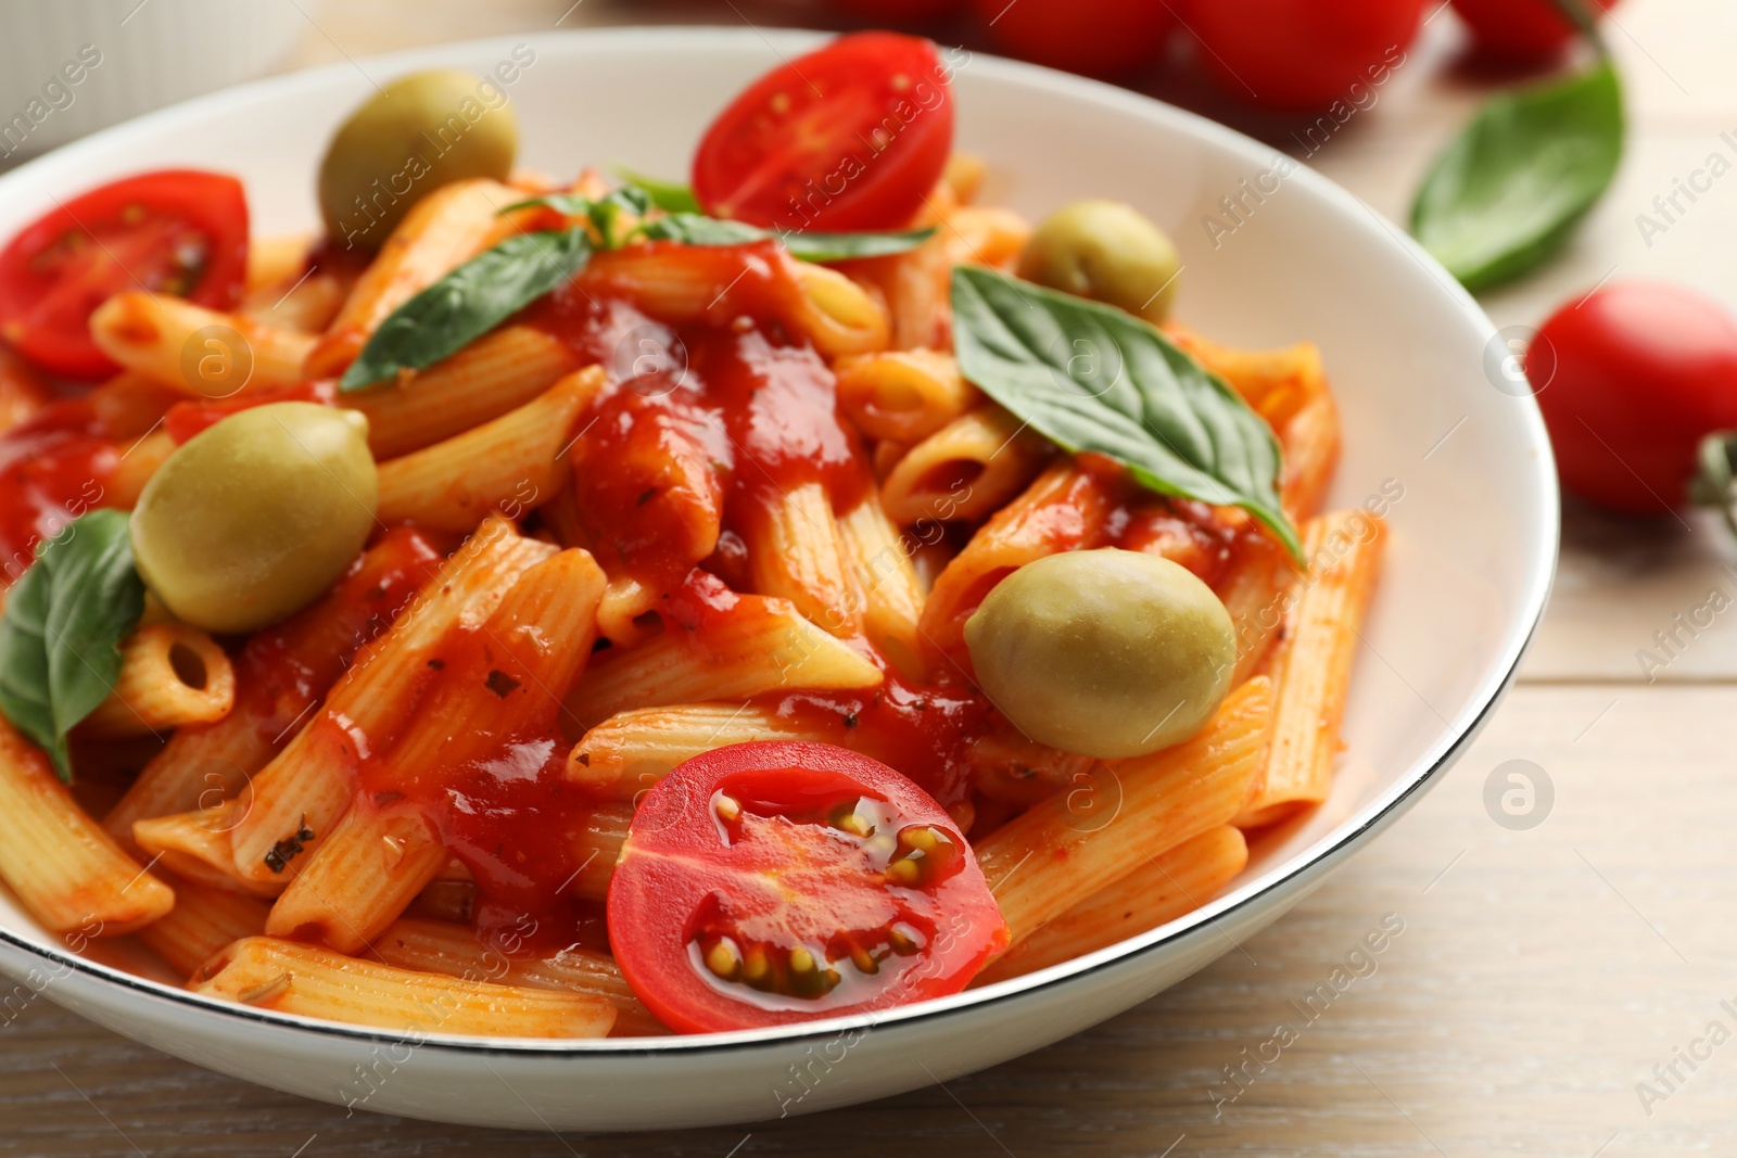
[[[1073,201],[1044,219],[1020,255],[1020,276],[1119,306],[1160,325],[1171,316],[1181,257],[1162,229],[1120,201]]]

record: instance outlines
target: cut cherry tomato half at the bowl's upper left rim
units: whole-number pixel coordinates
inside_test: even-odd
[[[90,311],[122,290],[212,309],[241,300],[247,196],[224,174],[165,168],[59,205],[0,250],[0,337],[71,378],[115,373]]]

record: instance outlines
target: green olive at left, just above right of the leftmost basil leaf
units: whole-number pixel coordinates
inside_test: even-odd
[[[363,415],[254,406],[188,439],[151,476],[132,510],[134,563],[179,620],[248,632],[344,573],[377,502]]]

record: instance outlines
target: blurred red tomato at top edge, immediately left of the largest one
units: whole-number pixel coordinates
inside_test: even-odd
[[[1119,76],[1164,52],[1176,16],[1153,0],[974,0],[995,42],[1027,61]]]

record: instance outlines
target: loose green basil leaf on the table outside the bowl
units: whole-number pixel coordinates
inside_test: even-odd
[[[1549,257],[1622,160],[1622,83],[1610,61],[1492,99],[1412,203],[1412,233],[1468,290]]]

